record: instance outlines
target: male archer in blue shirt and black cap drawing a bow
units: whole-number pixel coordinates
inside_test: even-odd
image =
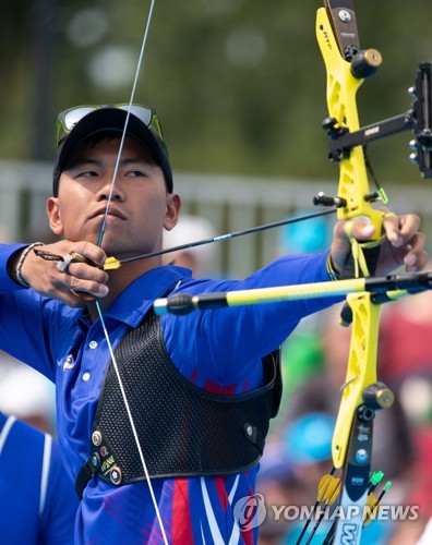
[[[257,529],[242,529],[235,506],[254,494],[277,412],[277,349],[329,301],[183,317],[156,317],[153,303],[173,292],[327,281],[350,252],[346,226],[336,225],[329,250],[280,257],[243,280],[194,279],[160,256],[107,272],[108,256],[161,250],[181,206],[154,109],[132,107],[116,168],[125,118],[122,106],[59,116],[47,211],[62,240],[0,246],[0,349],[56,383],[59,440],[82,498],[76,543],[254,543]],[[415,215],[384,219],[379,274],[400,265],[422,269],[428,256],[419,225]],[[368,240],[374,228],[356,221],[351,230]]]

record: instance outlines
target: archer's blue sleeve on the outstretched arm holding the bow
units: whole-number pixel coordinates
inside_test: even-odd
[[[286,256],[244,280],[185,282],[178,292],[197,294],[328,281],[326,256],[327,252]],[[277,349],[301,318],[335,302],[336,298],[317,298],[197,311],[188,316],[166,315],[164,337],[172,361],[185,376],[204,368],[203,378],[218,385],[254,378],[259,384],[260,377],[254,377],[257,362]]]

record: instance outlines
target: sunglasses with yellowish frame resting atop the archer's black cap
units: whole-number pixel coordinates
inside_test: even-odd
[[[165,138],[161,130],[159,119],[156,111],[148,106],[132,105],[129,104],[118,104],[112,106],[75,106],[69,110],[64,110],[59,113],[57,118],[56,128],[56,148],[59,147],[60,143],[64,137],[69,135],[72,129],[79,123],[85,116],[92,113],[96,110],[101,110],[104,108],[118,108],[119,110],[130,111],[132,116],[135,116],[140,121],[142,121],[148,129],[155,131],[159,136],[161,143],[165,147]]]

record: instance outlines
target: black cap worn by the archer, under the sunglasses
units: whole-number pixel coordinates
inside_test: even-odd
[[[53,168],[52,193],[55,196],[58,195],[60,174],[65,168],[69,154],[72,149],[95,134],[101,132],[117,132],[121,134],[124,131],[124,124],[128,116],[127,109],[115,106],[98,106],[95,108],[97,109],[80,119],[69,133],[65,133],[64,130],[62,131],[63,136],[61,136],[59,141]],[[151,125],[148,126],[143,120],[131,112],[125,134],[127,136],[136,138],[148,149],[153,159],[164,172],[168,192],[172,193],[172,170],[160,122],[153,108],[142,108],[151,112]],[[59,120],[62,114],[60,113]]]

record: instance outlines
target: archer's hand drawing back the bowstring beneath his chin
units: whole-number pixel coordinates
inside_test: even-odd
[[[84,263],[72,262],[61,271],[57,268],[61,262],[46,261],[38,257],[33,250],[28,252],[21,267],[21,277],[40,295],[58,299],[74,307],[107,295],[106,282],[109,277],[105,270],[98,268],[104,265],[107,256],[100,247],[91,242],[61,241],[37,246],[36,250],[59,256],[77,253],[86,258]],[[16,264],[22,252],[13,256],[10,263],[9,270],[13,278],[16,278]]]

